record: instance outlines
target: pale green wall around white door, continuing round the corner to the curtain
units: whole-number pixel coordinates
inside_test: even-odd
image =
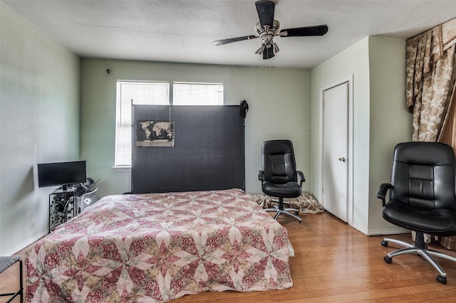
[[[368,235],[401,230],[381,218],[376,198],[390,179],[391,153],[410,141],[411,117],[405,109],[405,40],[366,37],[311,70],[311,192],[318,197],[320,166],[320,90],[353,77],[353,228]]]

